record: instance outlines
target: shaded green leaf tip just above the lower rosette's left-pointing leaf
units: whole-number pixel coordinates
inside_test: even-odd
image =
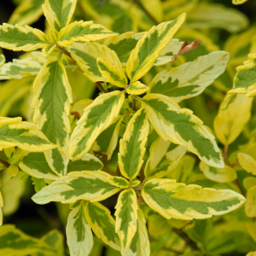
[[[99,171],[103,167],[102,161],[96,156],[86,153],[78,160],[70,160],[67,172]]]

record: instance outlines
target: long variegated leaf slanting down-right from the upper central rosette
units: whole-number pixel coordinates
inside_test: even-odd
[[[160,94],[144,96],[142,107],[164,141],[186,146],[209,166],[224,167],[214,137],[191,110],[180,108],[171,98]]]

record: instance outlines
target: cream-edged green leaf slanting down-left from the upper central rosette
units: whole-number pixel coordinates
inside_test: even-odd
[[[125,95],[115,90],[98,96],[84,109],[70,138],[70,159],[79,159],[90,150],[96,138],[118,117],[124,100]]]

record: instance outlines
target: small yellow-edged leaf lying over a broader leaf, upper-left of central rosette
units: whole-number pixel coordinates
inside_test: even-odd
[[[96,61],[98,69],[100,73],[102,73],[102,77],[107,79],[108,83],[114,84],[121,88],[125,87],[127,84],[127,79],[117,55],[116,59],[114,60],[114,65],[110,61],[102,58],[97,58]]]

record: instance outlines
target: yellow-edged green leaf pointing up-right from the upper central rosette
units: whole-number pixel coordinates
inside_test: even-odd
[[[180,15],[176,20],[153,26],[138,41],[136,48],[131,51],[126,67],[127,75],[131,82],[142,78],[154,65],[160,51],[171,41],[184,20],[185,14]]]

